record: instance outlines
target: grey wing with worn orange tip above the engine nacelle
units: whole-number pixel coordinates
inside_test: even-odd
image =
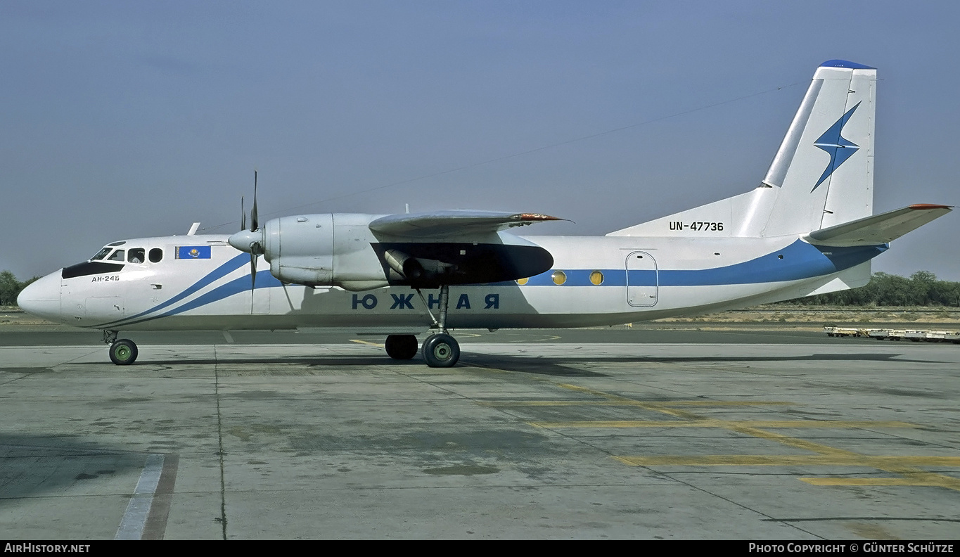
[[[540,213],[507,213],[477,210],[441,210],[380,217],[370,223],[370,230],[392,236],[443,238],[468,234],[492,233],[543,221],[564,219]]]

